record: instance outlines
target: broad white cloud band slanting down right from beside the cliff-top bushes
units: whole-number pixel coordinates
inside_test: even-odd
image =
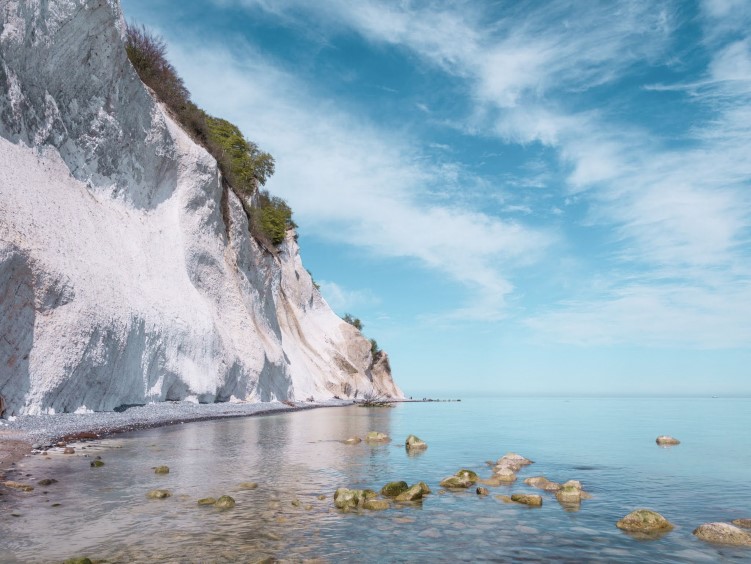
[[[237,123],[276,159],[271,190],[287,198],[303,229],[382,257],[416,259],[470,288],[482,318],[502,315],[508,273],[550,235],[425,194],[465,179],[433,167],[419,144],[341,112],[248,46],[171,44],[171,58],[209,113]],[[258,111],[262,108],[262,111]]]

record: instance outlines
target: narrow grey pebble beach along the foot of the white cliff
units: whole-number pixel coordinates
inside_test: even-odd
[[[294,403],[273,401],[195,404],[170,401],[134,406],[121,412],[24,415],[13,421],[0,419],[0,472],[7,471],[33,451],[44,450],[61,441],[99,440],[120,433],[183,423],[274,415],[321,407],[346,407],[357,403],[353,400],[334,399]]]

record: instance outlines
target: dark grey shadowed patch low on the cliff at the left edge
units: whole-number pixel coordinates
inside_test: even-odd
[[[31,385],[29,354],[34,341],[33,274],[27,257],[0,242],[0,397],[4,417],[17,415]]]

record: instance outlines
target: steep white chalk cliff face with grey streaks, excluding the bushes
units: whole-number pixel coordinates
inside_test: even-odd
[[[132,69],[116,0],[0,0],[5,415],[193,398],[401,397],[289,233],[248,233],[216,162]]]

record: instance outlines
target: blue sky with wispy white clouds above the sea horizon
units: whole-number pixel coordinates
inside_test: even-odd
[[[751,396],[751,2],[122,7],[407,395]]]

